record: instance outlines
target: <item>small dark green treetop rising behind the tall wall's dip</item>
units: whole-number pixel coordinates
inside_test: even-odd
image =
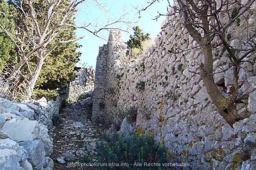
[[[127,46],[132,49],[132,48],[142,48],[141,42],[147,39],[150,39],[149,34],[147,33],[144,35],[142,33],[142,29],[140,29],[139,26],[133,27],[134,30],[134,35],[130,35],[130,40],[126,42]]]

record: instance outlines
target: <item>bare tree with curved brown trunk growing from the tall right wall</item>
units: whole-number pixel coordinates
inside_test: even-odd
[[[154,2],[156,0],[153,0]],[[156,17],[157,19],[162,15],[175,15],[176,13],[182,15],[183,24],[189,35],[198,43],[197,47],[203,51],[202,70],[198,74],[201,75],[206,90],[217,106],[219,114],[231,126],[236,121],[244,119],[237,114],[236,110],[236,103],[243,99],[243,94],[238,93],[239,68],[242,63],[255,60],[255,23],[254,27],[247,26],[245,28],[247,35],[243,38],[240,37],[242,44],[239,47],[231,44],[231,34],[227,32],[231,26],[239,26],[242,20],[247,21],[248,25],[249,16],[252,15],[252,11],[255,12],[255,9],[252,9],[255,0],[248,0],[245,3],[241,4],[241,1],[238,0],[177,0],[173,6],[169,3],[173,8],[171,13],[158,13],[159,15]],[[150,5],[152,3],[148,6]],[[225,95],[218,90],[213,79],[213,50],[220,47],[226,51],[226,56],[231,63],[228,69],[232,69],[234,73],[230,75],[233,77],[233,85],[230,87],[232,92]],[[187,49],[180,49],[180,51],[174,49],[169,52],[179,53],[185,50]]]

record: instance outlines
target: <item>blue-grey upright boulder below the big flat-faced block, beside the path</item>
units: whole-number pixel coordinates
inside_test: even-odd
[[[28,162],[31,163],[33,170],[43,170],[45,166],[45,146],[42,141],[24,141],[19,143],[28,152]]]

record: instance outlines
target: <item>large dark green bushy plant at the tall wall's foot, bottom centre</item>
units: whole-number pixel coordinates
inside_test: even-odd
[[[151,135],[117,135],[106,136],[98,143],[97,152],[100,163],[128,163],[128,166],[100,167],[102,170],[159,170],[163,166],[144,166],[144,163],[168,163],[165,147],[156,143]],[[142,166],[134,166],[141,163]]]

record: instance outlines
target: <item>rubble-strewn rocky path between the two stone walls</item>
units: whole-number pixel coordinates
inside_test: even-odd
[[[81,165],[83,156],[97,154],[95,147],[102,126],[91,122],[90,115],[83,108],[63,109],[60,115],[62,123],[50,133],[54,139],[51,155],[54,170],[74,170],[75,165]]]

